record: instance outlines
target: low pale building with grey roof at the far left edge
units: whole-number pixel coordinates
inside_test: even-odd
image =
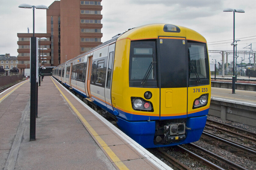
[[[18,60],[16,56],[10,56],[10,54],[0,55],[0,61],[0,67],[3,69],[18,67]]]

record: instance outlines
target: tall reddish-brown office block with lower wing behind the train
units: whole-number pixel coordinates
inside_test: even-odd
[[[46,55],[44,66],[50,67],[70,60],[95,46],[100,45],[101,33],[101,0],[61,0],[54,1],[46,10],[46,32],[35,33],[41,40],[41,48]],[[18,68],[30,68],[30,37],[32,33],[17,33],[19,41]],[[38,42],[39,45],[39,42]],[[41,51],[42,53],[42,51]],[[42,55],[42,54],[41,54]]]

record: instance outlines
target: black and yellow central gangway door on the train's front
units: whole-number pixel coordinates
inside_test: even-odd
[[[183,37],[159,37],[160,119],[187,117],[187,48]]]

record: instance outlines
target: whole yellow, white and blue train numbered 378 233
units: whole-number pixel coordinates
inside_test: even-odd
[[[198,141],[205,127],[208,49],[192,29],[172,24],[128,29],[52,73],[144,148]]]

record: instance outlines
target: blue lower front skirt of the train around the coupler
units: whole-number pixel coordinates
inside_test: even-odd
[[[119,128],[128,136],[130,136],[130,138],[132,138],[134,141],[139,143],[144,148],[156,148],[198,141],[204,130],[207,116],[204,115],[198,117],[188,117],[186,127],[188,127],[189,129],[186,129],[186,138],[178,142],[172,142],[169,144],[154,144],[156,121],[130,122],[120,117],[117,117],[117,119],[117,124]]]

